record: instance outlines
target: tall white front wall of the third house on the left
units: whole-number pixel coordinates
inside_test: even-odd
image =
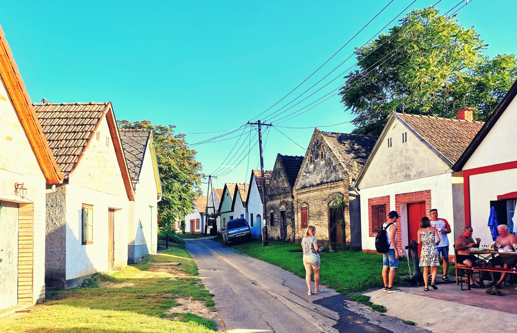
[[[130,262],[156,253],[158,241],[158,188],[154,176],[153,161],[149,145],[144,153],[144,160],[138,184],[135,189],[133,216],[129,218],[132,229],[129,234],[128,259]],[[129,231],[128,231],[129,232]]]

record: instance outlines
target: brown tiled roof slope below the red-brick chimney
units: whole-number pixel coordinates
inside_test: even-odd
[[[454,164],[483,122],[441,118],[430,115],[397,113],[409,126]]]

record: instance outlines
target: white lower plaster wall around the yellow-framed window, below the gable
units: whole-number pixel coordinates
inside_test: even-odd
[[[98,180],[99,181],[99,180]],[[101,182],[101,181],[99,181]],[[128,198],[77,185],[66,186],[66,279],[108,271],[108,209],[115,209],[114,269],[128,260]],[[82,245],[82,205],[94,207],[93,244]],[[68,287],[68,282],[67,282]]]

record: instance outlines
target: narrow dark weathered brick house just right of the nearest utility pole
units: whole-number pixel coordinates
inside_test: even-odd
[[[277,155],[267,192],[266,212],[268,213],[268,236],[270,239],[294,240],[293,186],[302,161],[302,156]],[[271,219],[271,213],[273,219]],[[281,230],[281,227],[283,227],[283,230]]]

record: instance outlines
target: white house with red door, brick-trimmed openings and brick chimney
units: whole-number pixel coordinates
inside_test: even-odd
[[[453,164],[483,123],[472,121],[472,110],[462,110],[458,118],[390,116],[354,186],[360,195],[363,251],[375,250],[375,236],[391,210],[401,215],[397,242],[403,254],[404,246],[417,240],[420,219],[431,208],[451,225],[451,244],[461,233],[463,177]],[[454,254],[452,246],[449,253]]]

